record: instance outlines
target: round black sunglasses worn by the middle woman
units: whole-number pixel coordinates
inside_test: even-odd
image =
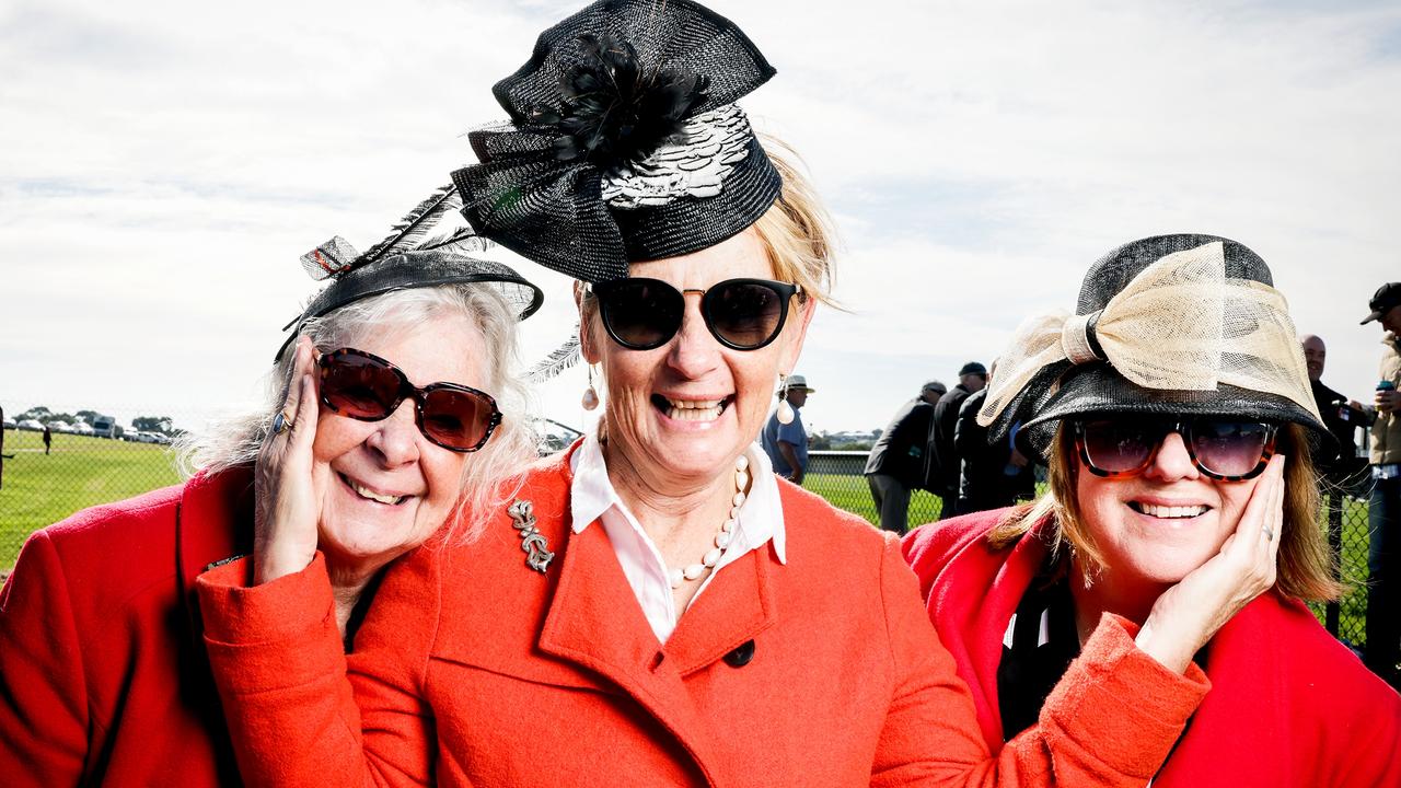
[[[590,286],[598,297],[604,328],[623,348],[651,351],[671,341],[686,311],[685,294],[700,294],[700,317],[726,348],[758,351],[768,345],[787,320],[800,285],[768,279],[726,279],[708,290],[677,290],[660,279],[614,279]]]

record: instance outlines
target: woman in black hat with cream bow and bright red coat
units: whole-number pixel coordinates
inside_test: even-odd
[[[1401,785],[1401,698],[1303,604],[1338,592],[1311,461],[1331,439],[1269,283],[1234,241],[1145,238],[1090,269],[1077,315],[1027,321],[1002,356],[979,421],[1020,425],[1048,492],[905,540],[993,750],[1104,613],[1160,627],[1154,606],[1202,568],[1278,544],[1274,589],[1196,653],[1212,690],[1153,785]]]

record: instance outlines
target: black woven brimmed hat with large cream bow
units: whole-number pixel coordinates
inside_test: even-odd
[[[1285,297],[1255,252],[1216,236],[1142,238],[1084,275],[1076,314],[1031,317],[999,358],[978,422],[1047,456],[1061,419],[1192,414],[1295,422],[1318,416]]]

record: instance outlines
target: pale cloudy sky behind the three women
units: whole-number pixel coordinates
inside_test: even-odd
[[[0,6],[0,405],[252,407],[315,292],[504,118],[490,86],[581,3],[20,0]],[[1324,381],[1369,400],[1401,279],[1401,4],[715,0],[778,76],[741,104],[803,156],[842,237],[796,372],[813,430],[869,430],[932,377],[1073,310],[1104,252],[1212,233],[1274,269]],[[545,290],[523,363],[573,327]],[[538,391],[581,425],[584,373]]]

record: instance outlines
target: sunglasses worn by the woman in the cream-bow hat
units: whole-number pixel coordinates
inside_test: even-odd
[[[1222,481],[1243,481],[1264,473],[1275,454],[1276,425],[1220,418],[1118,418],[1075,422],[1075,446],[1091,474],[1139,474],[1168,433],[1182,444],[1196,470]]]

